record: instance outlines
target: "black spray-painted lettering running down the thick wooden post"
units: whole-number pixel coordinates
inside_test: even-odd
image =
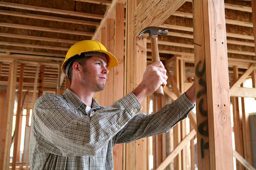
[[[204,61],[202,70],[200,71],[199,67],[200,67],[201,63],[202,62],[199,61],[196,65],[196,76],[199,77],[198,83],[199,83],[199,85],[201,85],[203,87],[203,89],[200,90],[199,92],[197,92],[197,94],[196,94],[197,98],[200,98],[202,96],[202,94],[207,93],[206,81],[204,80],[204,78],[202,78],[202,76],[205,75],[206,64],[205,64],[205,61]],[[207,112],[207,110],[203,109],[203,102],[204,102],[204,99],[201,98],[200,101],[199,101],[199,104],[198,104],[199,112],[200,112],[201,115],[207,116],[208,112]],[[198,132],[199,132],[199,134],[201,134],[203,136],[209,136],[208,119],[199,124]],[[200,144],[201,144],[201,146],[200,146],[201,147],[201,156],[202,156],[202,158],[204,158],[204,150],[209,149],[209,142],[204,143],[204,139],[201,138],[201,143]]]

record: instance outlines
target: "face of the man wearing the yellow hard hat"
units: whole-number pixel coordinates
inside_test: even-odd
[[[81,82],[95,92],[101,91],[104,89],[108,72],[107,63],[102,58],[93,56],[87,60],[86,66],[83,66]]]

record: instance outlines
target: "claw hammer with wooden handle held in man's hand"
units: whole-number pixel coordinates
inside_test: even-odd
[[[167,35],[168,30],[167,29],[159,29],[158,27],[146,27],[141,31],[141,33],[138,37],[140,38],[144,34],[149,34],[149,37],[150,37],[152,63],[154,63],[155,61],[160,61],[158,45],[157,45],[157,36],[158,36],[158,34]],[[154,96],[157,96],[157,97],[163,96],[163,85],[161,85],[154,92]]]

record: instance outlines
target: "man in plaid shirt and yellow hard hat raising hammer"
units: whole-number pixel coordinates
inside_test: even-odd
[[[115,144],[166,133],[194,107],[195,85],[157,113],[137,114],[141,101],[167,84],[160,61],[147,66],[131,93],[112,106],[100,106],[93,94],[104,89],[108,69],[117,65],[115,56],[97,41],[84,40],[68,50],[62,70],[70,88],[63,95],[45,94],[35,103],[31,169],[113,169]]]

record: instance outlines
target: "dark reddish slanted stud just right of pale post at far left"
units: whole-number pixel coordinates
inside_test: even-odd
[[[17,113],[16,113],[16,123],[15,123],[15,133],[14,133],[14,144],[13,144],[13,170],[15,170],[16,161],[18,161],[18,154],[20,153],[20,146],[21,146],[21,100],[22,100],[22,88],[23,88],[23,76],[24,76],[24,64],[21,64],[20,69],[20,78],[19,78],[19,88],[18,88],[18,107],[17,107]]]

